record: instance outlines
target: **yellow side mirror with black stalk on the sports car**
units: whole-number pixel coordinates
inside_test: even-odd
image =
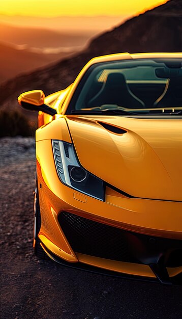
[[[28,91],[20,94],[18,102],[25,110],[42,111],[49,115],[56,114],[56,110],[44,104],[45,94],[41,90]]]

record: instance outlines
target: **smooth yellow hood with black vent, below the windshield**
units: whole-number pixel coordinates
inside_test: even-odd
[[[86,170],[134,197],[182,200],[180,119],[75,115],[66,119]],[[123,131],[117,134],[115,127]]]

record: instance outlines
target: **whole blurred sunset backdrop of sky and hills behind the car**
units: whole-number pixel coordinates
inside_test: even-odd
[[[64,89],[95,56],[182,48],[182,0],[115,1],[112,7],[108,1],[104,8],[96,0],[91,7],[78,0],[77,7],[72,2],[65,11],[53,6],[57,0],[45,8],[41,0],[28,7],[30,1],[18,6],[20,0],[8,0],[12,6],[7,12],[1,6],[0,136],[34,134],[37,115],[19,107],[19,94]],[[21,122],[27,130],[20,128]]]

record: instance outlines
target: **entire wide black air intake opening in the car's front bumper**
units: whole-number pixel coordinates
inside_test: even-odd
[[[156,256],[159,256],[166,267],[182,265],[181,240],[123,230],[67,211],[58,215],[58,221],[75,252],[145,264],[156,263]]]

